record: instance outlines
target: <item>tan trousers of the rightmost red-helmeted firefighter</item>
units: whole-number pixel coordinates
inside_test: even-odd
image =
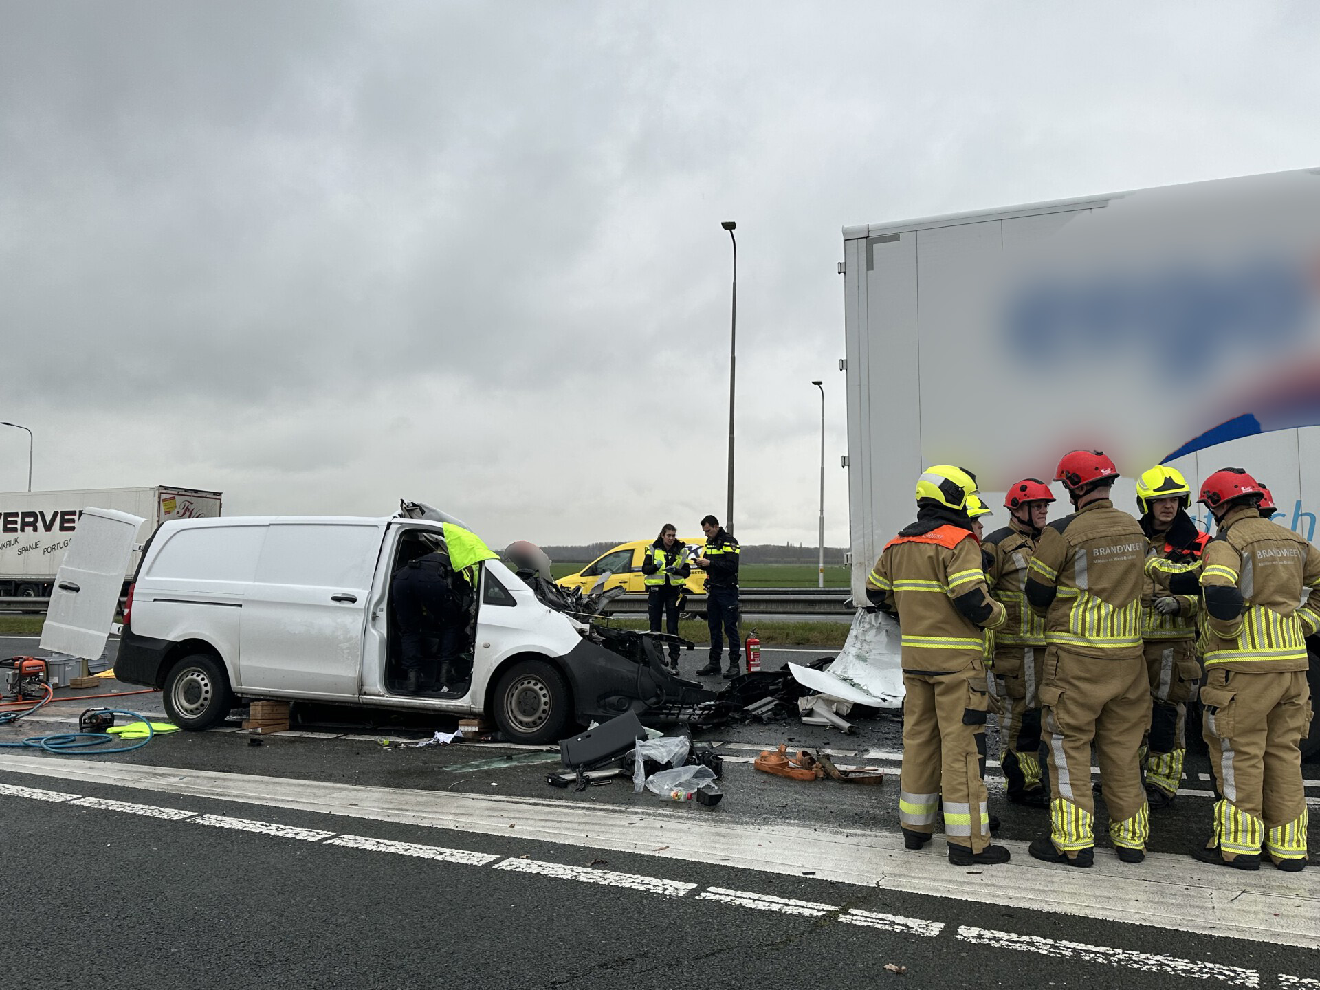
[[[1251,673],[1212,667],[1201,688],[1204,734],[1220,800],[1214,838],[1224,859],[1259,853],[1305,859],[1307,799],[1299,743],[1311,727],[1305,671]]]

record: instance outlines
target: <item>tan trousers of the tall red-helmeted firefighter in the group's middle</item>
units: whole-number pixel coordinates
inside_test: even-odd
[[[1096,799],[1090,785],[1090,746],[1109,809],[1115,846],[1144,849],[1150,808],[1142,787],[1140,747],[1150,722],[1150,682],[1140,653],[1127,657],[1080,656],[1059,647],[1045,651],[1040,684],[1040,738],[1049,762],[1049,837],[1068,855],[1096,843]]]

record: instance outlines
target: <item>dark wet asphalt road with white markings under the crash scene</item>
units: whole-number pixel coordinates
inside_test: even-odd
[[[61,692],[0,742],[67,731],[91,704],[161,711],[154,693],[79,700],[116,688],[132,690]],[[1014,859],[969,869],[941,837],[902,847],[887,717],[855,735],[796,719],[710,730],[726,796],[701,808],[623,780],[552,789],[553,750],[412,744],[445,719],[296,710],[296,731],[268,737],[232,722],[96,758],[0,750],[15,986],[1320,990],[1320,870],[1185,855],[1210,825],[1196,751],[1184,793],[1152,813],[1147,861],[1101,842],[1092,870],[1026,854],[1045,816],[1005,801],[991,760]],[[779,742],[886,780],[754,771]],[[1315,808],[1320,766],[1305,776]]]

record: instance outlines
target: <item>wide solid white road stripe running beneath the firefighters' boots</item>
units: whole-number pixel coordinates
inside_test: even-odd
[[[896,832],[793,824],[748,825],[693,808],[589,807],[573,800],[495,797],[288,777],[183,771],[100,760],[0,754],[0,771],[139,788],[195,799],[285,808],[462,833],[612,849],[858,887],[1051,911],[1206,936],[1320,949],[1320,870],[1243,873],[1187,855],[1147,854],[1139,867],[1106,850],[1090,870],[1031,859],[1026,842],[1002,841],[1012,862],[970,874],[945,861],[944,840],[907,851]]]

